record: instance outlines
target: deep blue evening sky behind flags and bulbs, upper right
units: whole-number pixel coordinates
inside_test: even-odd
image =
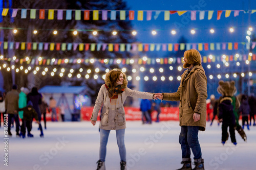
[[[137,21],[137,18],[132,21],[134,29],[137,30],[137,39],[143,43],[176,43],[181,36],[184,36],[188,42],[241,42],[246,41],[246,31],[251,25],[255,32],[256,13],[251,14],[249,24],[249,14],[240,12],[239,16],[234,17],[233,12],[225,18],[225,12],[222,13],[221,19],[217,20],[217,10],[248,10],[256,9],[256,1],[250,0],[235,0],[235,1],[219,1],[219,0],[186,0],[186,1],[170,1],[170,0],[127,0],[127,6],[131,10],[193,10],[191,7],[200,7],[202,3],[204,7],[199,10],[215,10],[211,20],[207,19],[208,13],[205,12],[205,19],[199,20],[199,12],[197,12],[197,20],[190,20],[180,29],[176,35],[170,34],[170,30],[176,29],[175,22],[182,23],[182,16],[178,14],[170,15],[170,20],[164,20],[164,12],[161,12],[155,20],[155,12],[152,13],[152,20],[146,20],[144,12],[144,20]],[[198,10],[198,8],[196,8]],[[184,14],[185,16],[187,13]],[[137,15],[135,15],[136,17]],[[229,28],[234,27],[233,33],[229,32]],[[196,34],[191,35],[190,30],[195,28]],[[210,28],[215,29],[215,33],[209,32]],[[160,29],[157,35],[153,36],[150,30]],[[212,51],[209,53],[213,53]],[[223,52],[216,52],[223,53]],[[228,52],[226,52],[228,53]],[[234,52],[231,52],[234,53]],[[207,54],[207,52],[206,52]],[[231,55],[231,54],[230,54]]]

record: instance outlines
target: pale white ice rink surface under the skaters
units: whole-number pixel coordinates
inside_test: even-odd
[[[45,137],[39,137],[33,123],[34,138],[9,138],[9,164],[4,166],[4,144],[1,142],[0,169],[96,169],[99,159],[99,122],[48,122]],[[181,167],[181,149],[178,142],[180,127],[175,121],[142,125],[140,121],[127,122],[125,146],[128,169],[177,169]],[[44,126],[43,126],[44,127]],[[245,129],[248,141],[236,132],[238,145],[230,138],[221,144],[221,126],[217,122],[199,132],[205,169],[255,169],[256,127]],[[3,127],[0,129],[2,141]],[[14,129],[12,128],[14,134]],[[60,142],[61,141],[61,142]],[[48,157],[47,157],[48,154]],[[191,158],[193,154],[191,153]],[[106,154],[106,169],[120,169],[120,157],[115,131],[111,131]]]

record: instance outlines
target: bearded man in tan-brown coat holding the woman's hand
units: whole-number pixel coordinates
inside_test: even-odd
[[[180,101],[179,143],[182,150],[182,164],[179,170],[191,169],[190,149],[194,154],[195,168],[204,169],[204,160],[198,141],[198,131],[204,131],[206,125],[207,78],[201,65],[201,55],[197,50],[184,53],[184,68],[177,92],[157,93],[158,99]]]

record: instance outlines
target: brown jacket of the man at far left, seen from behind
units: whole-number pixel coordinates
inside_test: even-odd
[[[17,90],[12,89],[7,92],[5,97],[5,108],[7,109],[8,114],[18,114],[18,98],[19,93]]]

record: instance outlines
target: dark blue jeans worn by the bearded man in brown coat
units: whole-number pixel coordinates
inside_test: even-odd
[[[198,141],[198,126],[182,126],[179,136],[182,158],[190,158],[190,148],[194,159],[202,158],[201,147]]]

